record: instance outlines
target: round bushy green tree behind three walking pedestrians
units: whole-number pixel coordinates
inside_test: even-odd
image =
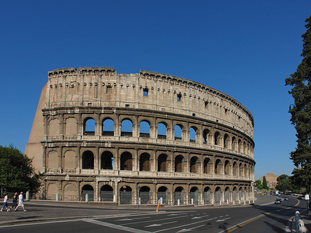
[[[0,146],[1,192],[38,192],[41,175],[35,173],[32,159],[14,148]]]

